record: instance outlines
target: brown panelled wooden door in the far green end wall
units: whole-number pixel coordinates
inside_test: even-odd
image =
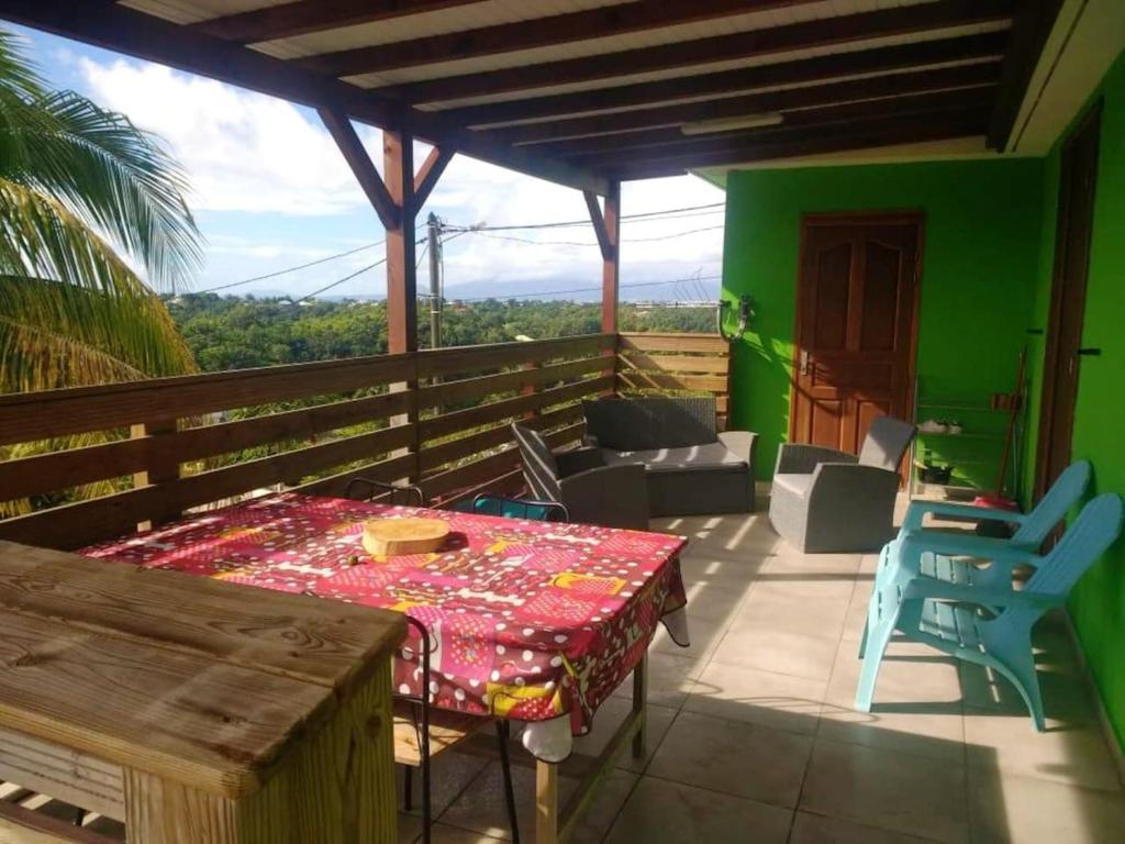
[[[910,415],[921,221],[803,225],[790,439],[856,452],[872,420]]]

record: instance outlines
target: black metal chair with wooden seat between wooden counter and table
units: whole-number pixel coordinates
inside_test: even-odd
[[[405,766],[406,776],[403,781],[403,798],[407,811],[413,808],[411,769],[422,772],[422,841],[430,844],[433,827],[433,805],[430,779],[430,762],[441,753],[451,749],[466,740],[489,719],[453,712],[430,707],[430,653],[432,644],[430,631],[425,625],[415,618],[406,616],[406,622],[418,631],[422,658],[422,694],[394,695],[395,700],[395,762]],[[508,740],[511,731],[508,722],[503,718],[494,720],[496,739],[500,749],[500,764],[504,773],[504,800],[507,805],[507,818],[512,828],[512,841],[520,842],[520,827],[515,815],[515,793],[512,789],[512,763],[508,757]]]

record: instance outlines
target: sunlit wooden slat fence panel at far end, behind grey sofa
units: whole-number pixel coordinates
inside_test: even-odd
[[[730,344],[719,334],[620,334],[615,386],[622,395],[709,393],[726,428]]]

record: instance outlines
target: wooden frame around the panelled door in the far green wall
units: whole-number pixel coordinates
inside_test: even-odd
[[[796,405],[796,368],[800,366],[801,357],[801,275],[804,271],[804,250],[808,245],[806,233],[816,226],[837,225],[912,225],[917,232],[918,248],[915,252],[915,266],[911,278],[914,280],[914,304],[910,314],[910,352],[907,360],[907,392],[906,404],[910,408],[909,422],[914,422],[915,381],[917,377],[918,362],[918,317],[921,306],[921,268],[922,255],[926,251],[926,212],[918,209],[901,210],[840,210],[840,212],[811,212],[801,215],[801,235],[796,253],[796,278],[794,280],[794,293],[796,303],[793,317],[793,358],[790,361],[790,387],[789,387],[789,433],[790,442],[796,436],[796,414],[793,408]],[[904,458],[903,458],[904,459]]]

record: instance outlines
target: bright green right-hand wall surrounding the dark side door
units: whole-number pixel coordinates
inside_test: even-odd
[[[1099,347],[1101,357],[1084,358],[1079,375],[1074,437],[1076,458],[1095,467],[1096,492],[1125,493],[1122,392],[1125,387],[1125,53],[1106,74],[1078,118],[1101,100],[1101,144],[1090,243],[1082,344]],[[1060,147],[1046,160],[1043,250],[1036,318],[1045,324],[1054,259]],[[1040,389],[1042,344],[1036,358],[1035,397]],[[1037,404],[1033,405],[1038,407]],[[1029,443],[1029,455],[1034,455]],[[1082,578],[1071,599],[1071,617],[1082,643],[1117,737],[1125,746],[1125,542]]]

